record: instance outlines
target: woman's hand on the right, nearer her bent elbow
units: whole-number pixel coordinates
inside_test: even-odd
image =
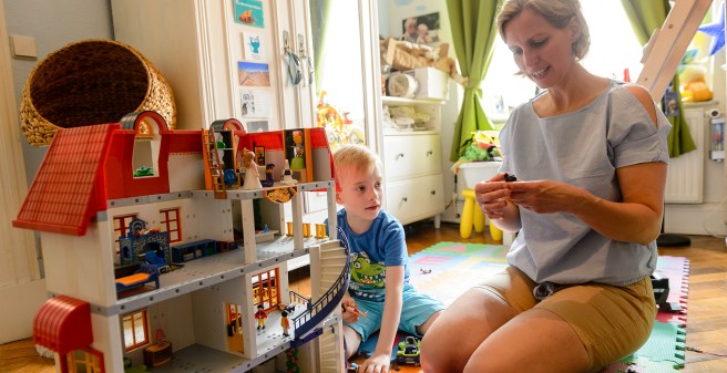
[[[508,183],[510,199],[520,207],[537,213],[572,211],[584,190],[553,180]]]

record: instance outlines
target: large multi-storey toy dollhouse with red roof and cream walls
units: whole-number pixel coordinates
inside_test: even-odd
[[[41,236],[51,298],[33,339],[57,370],[345,371],[349,263],[335,236],[331,155],[324,128],[299,131],[308,179],[249,190],[240,152],[280,180],[285,131],[246,133],[236,120],[171,131],[154,112],[59,131],[13,221]],[[331,237],[303,221],[311,190],[328,193]],[[288,261],[303,256],[310,298],[288,288]]]

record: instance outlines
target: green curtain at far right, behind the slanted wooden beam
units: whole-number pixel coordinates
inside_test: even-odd
[[[662,28],[666,15],[672,9],[668,0],[621,0],[621,3],[624,6],[636,39],[638,39],[642,45],[646,45],[654,30]],[[672,80],[672,86],[677,95],[679,95],[679,77],[676,74]],[[682,105],[680,95],[678,99],[679,113],[677,116],[669,117],[672,132],[669,132],[667,141],[670,157],[678,157],[697,148],[689,134],[689,125],[684,118],[684,106]]]

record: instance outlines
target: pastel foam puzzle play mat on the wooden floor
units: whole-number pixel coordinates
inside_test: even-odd
[[[418,291],[444,304],[503,268],[509,247],[501,245],[440,242],[409,258],[410,281]],[[669,301],[686,310],[688,260],[659,257],[657,270],[669,278]],[[633,356],[610,365],[603,373],[633,372],[678,373],[684,366],[686,313],[678,317],[659,312],[652,335]]]

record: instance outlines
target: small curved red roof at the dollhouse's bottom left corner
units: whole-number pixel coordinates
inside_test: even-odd
[[[47,300],[35,313],[33,342],[62,355],[90,345],[93,332],[89,302],[66,296]]]

